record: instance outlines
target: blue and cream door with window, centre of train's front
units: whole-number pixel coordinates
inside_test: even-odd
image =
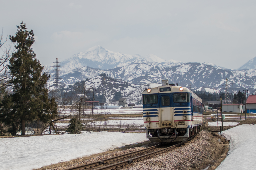
[[[171,95],[160,96],[160,127],[173,126],[173,109]]]

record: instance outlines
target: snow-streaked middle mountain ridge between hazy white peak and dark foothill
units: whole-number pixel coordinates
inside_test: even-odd
[[[178,66],[166,67],[156,62],[136,61],[127,66],[108,70],[88,66],[77,68],[68,74],[61,74],[62,79],[60,81],[62,84],[74,84],[76,81],[91,79],[105,73],[108,77],[134,85],[162,84],[162,80],[168,79],[169,83],[179,83],[181,86],[191,87],[194,90],[205,87],[224,91],[224,83],[227,78],[230,84],[230,92],[237,92],[244,88],[255,91],[256,70],[250,69],[247,71],[217,69],[203,63],[183,63]],[[54,76],[52,77],[54,78]],[[49,82],[53,84],[53,81]],[[202,90],[205,88],[202,88]]]

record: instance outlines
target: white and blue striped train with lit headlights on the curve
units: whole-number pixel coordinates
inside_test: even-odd
[[[202,99],[189,88],[169,84],[142,92],[146,136],[152,142],[182,142],[201,131]]]

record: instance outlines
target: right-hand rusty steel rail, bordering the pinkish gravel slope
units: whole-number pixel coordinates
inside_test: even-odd
[[[148,154],[145,154],[145,155],[137,156],[135,158],[132,158],[132,159],[129,159],[129,160],[126,160],[126,161],[122,161],[122,162],[118,162],[118,163],[111,164],[111,165],[108,165],[108,166],[100,167],[100,168],[97,168],[97,169],[94,169],[94,170],[110,170],[110,169],[118,169],[119,167],[122,168],[123,166],[131,164],[134,161],[139,161],[139,160],[145,159],[147,157],[150,157],[150,156],[162,153],[162,152],[166,152],[166,151],[168,151],[168,150],[170,150],[170,149],[172,149],[174,147],[182,145],[183,143],[185,143],[188,140],[191,140],[193,138],[194,138],[194,136],[192,136],[191,138],[189,138],[189,139],[187,139],[187,140],[185,140],[185,141],[183,141],[181,143],[178,143],[176,145],[173,145],[173,146],[170,146],[170,147],[167,147],[167,148],[155,151],[155,152],[151,152],[151,153],[148,153]]]

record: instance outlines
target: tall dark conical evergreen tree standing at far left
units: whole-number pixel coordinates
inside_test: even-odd
[[[26,122],[48,122],[57,113],[57,105],[54,99],[48,98],[45,88],[50,75],[42,74],[44,67],[31,48],[35,42],[33,30],[28,31],[23,21],[17,28],[15,36],[9,36],[15,47],[8,65],[13,91],[4,97],[1,109],[6,124],[12,126],[12,135],[16,135],[20,127],[25,135]]]

